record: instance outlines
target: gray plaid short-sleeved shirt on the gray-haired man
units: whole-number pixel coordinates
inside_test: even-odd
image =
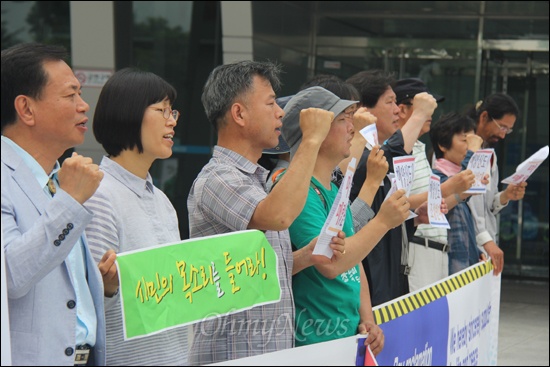
[[[219,146],[199,173],[187,200],[190,237],[248,229],[257,205],[267,196],[268,172]],[[281,300],[194,325],[191,364],[208,364],[294,346],[292,249],[288,230],[266,231],[277,254]],[[246,246],[243,243],[243,246]]]

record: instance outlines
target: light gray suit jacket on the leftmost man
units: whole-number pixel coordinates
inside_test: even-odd
[[[63,190],[49,200],[28,166],[2,141],[2,230],[14,365],[74,365],[76,295],[65,259],[91,218]],[[105,365],[103,282],[85,238],[84,247],[98,321],[94,364]]]

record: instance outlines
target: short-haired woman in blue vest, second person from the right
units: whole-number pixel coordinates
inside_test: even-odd
[[[462,171],[462,161],[468,153],[467,135],[473,134],[475,123],[468,116],[451,112],[443,115],[430,129],[435,152],[434,174],[441,184]],[[470,208],[464,201],[470,194],[458,195],[459,203],[449,210],[448,230],[449,275],[477,263],[480,252],[476,245],[475,228]]]

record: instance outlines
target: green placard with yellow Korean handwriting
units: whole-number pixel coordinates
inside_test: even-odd
[[[120,253],[117,266],[126,339],[281,297],[277,256],[256,230]]]

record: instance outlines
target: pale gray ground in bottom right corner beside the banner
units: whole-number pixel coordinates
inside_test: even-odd
[[[549,366],[548,282],[503,279],[499,366]]]

